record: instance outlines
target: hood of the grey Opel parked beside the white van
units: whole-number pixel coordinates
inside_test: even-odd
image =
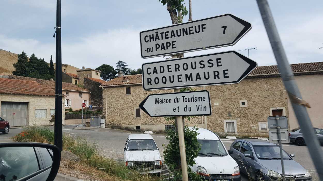
[[[281,160],[263,160],[258,159],[258,163],[266,167],[268,170],[283,174]],[[301,175],[306,173],[306,169],[294,160],[284,160],[286,175]]]

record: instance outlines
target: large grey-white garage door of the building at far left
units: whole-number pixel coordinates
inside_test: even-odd
[[[10,127],[27,126],[26,102],[1,102],[1,118],[9,122]]]

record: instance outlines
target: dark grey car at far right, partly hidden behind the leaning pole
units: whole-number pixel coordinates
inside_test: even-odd
[[[314,128],[314,132],[316,134],[316,137],[318,138],[318,141],[323,144],[323,129],[320,128]],[[290,130],[289,132],[289,140],[292,143],[295,143],[296,145],[305,145],[305,140],[303,138],[303,133],[300,128],[295,128]]]

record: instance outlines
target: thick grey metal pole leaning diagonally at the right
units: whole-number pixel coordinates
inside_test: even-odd
[[[268,2],[267,0],[257,0],[257,4],[287,93],[294,96],[294,98],[301,100],[301,94],[298,90],[296,81],[294,80],[294,75],[288,63],[287,56],[281,43]],[[294,102],[292,102],[292,106],[298,124],[302,129],[303,137],[307,144],[308,151],[312,157],[312,161],[318,172],[319,178],[320,180],[323,180],[323,152],[314,133],[314,129],[311,120],[309,119],[307,110],[305,106],[295,104]]]

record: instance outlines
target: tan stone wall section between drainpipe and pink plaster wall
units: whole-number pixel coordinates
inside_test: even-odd
[[[233,134],[268,134],[267,130],[259,131],[258,122],[267,121],[270,108],[285,108],[288,118],[287,93],[280,77],[244,79],[238,84],[206,86],[206,90],[212,106],[207,128],[214,132],[224,133],[224,120],[235,120]],[[244,107],[240,107],[240,100],[245,101]]]

